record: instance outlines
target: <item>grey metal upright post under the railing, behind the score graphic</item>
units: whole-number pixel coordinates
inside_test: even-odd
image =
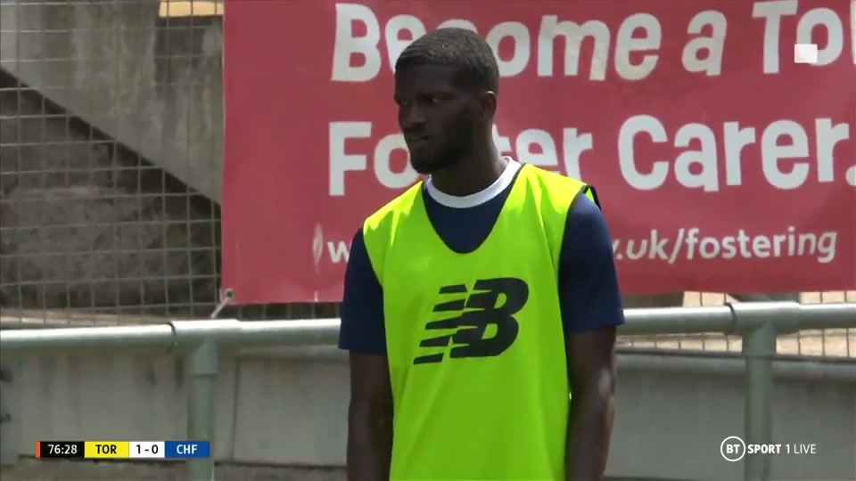
[[[187,460],[187,478],[190,481],[213,481],[218,371],[218,348],[214,339],[196,347],[189,355],[189,364],[187,436],[193,441],[208,441],[209,456]]]

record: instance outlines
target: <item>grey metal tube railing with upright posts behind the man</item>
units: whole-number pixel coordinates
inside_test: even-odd
[[[723,333],[743,339],[745,360],[745,443],[772,441],[772,365],[777,338],[800,330],[856,327],[856,303],[800,305],[745,303],[717,307],[629,309],[622,336]],[[218,357],[243,347],[329,346],[338,319],[241,322],[235,319],[172,321],[144,326],[0,331],[4,356],[74,353],[86,350],[187,355],[190,389],[188,436],[214,443]],[[212,449],[213,452],[213,449]],[[191,481],[214,479],[214,459],[187,461]],[[746,452],[746,481],[770,477],[770,454]]]

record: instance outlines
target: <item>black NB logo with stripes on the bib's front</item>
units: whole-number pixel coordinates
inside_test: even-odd
[[[449,345],[449,358],[456,359],[501,355],[514,344],[520,330],[514,314],[520,312],[529,299],[529,285],[525,281],[513,277],[481,279],[475,282],[469,296],[466,296],[468,291],[464,284],[440,288],[440,296],[449,294],[457,294],[457,299],[440,302],[434,306],[433,312],[457,315],[425,325],[429,333],[438,330],[446,333],[425,338],[419,343],[420,347],[442,347],[444,350],[417,356],[414,364],[442,362],[447,354],[445,348]],[[485,337],[490,327],[493,329],[490,329],[489,337]]]

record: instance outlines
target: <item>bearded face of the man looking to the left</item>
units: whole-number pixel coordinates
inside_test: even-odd
[[[431,174],[457,164],[469,151],[479,119],[476,95],[454,86],[453,70],[415,65],[396,72],[399,127],[410,165]]]

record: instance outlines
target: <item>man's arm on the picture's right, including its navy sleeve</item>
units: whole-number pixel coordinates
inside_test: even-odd
[[[615,328],[624,313],[609,230],[600,208],[582,195],[565,225],[559,297],[572,393],[565,477],[600,481],[613,431]]]

